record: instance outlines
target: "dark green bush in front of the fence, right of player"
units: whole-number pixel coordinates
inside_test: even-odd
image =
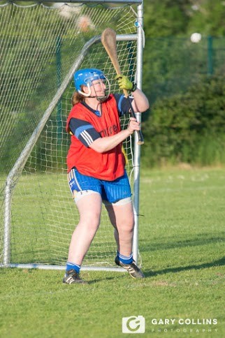
[[[203,76],[186,93],[157,100],[143,123],[147,166],[224,163],[225,84]]]

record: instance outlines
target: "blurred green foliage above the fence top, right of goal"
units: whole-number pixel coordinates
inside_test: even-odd
[[[224,36],[225,6],[221,0],[145,0],[147,37],[184,36],[199,31],[203,36]]]

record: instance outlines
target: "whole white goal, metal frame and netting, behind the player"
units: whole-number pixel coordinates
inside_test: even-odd
[[[121,71],[141,88],[143,1],[0,3],[0,267],[64,270],[78,212],[68,189],[65,131],[75,91],[73,73],[100,68],[118,92],[115,70],[101,45],[117,32]],[[25,4],[24,4],[25,3]],[[140,121],[140,114],[137,114]],[[125,127],[129,117],[122,117]],[[133,193],[133,257],[138,262],[140,145],[124,142]],[[101,224],[82,270],[116,267],[113,227]]]

